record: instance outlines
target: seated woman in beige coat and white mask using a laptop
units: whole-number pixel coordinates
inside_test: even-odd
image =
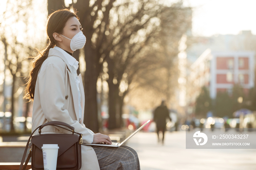
[[[109,136],[94,134],[83,124],[84,90],[78,61],[72,57],[86,42],[79,18],[68,9],[49,15],[46,27],[48,45],[31,62],[25,98],[33,100],[32,131],[48,121],[70,124],[83,134],[83,143],[108,143]],[[69,133],[46,126],[42,133]],[[91,147],[82,145],[81,170],[140,169],[136,151],[131,147]]]

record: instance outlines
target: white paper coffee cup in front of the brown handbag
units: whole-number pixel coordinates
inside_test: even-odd
[[[44,170],[56,170],[58,157],[58,144],[43,144]]]

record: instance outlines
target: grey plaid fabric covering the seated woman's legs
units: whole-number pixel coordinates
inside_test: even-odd
[[[101,170],[140,170],[138,154],[129,146],[93,146],[93,149]]]

